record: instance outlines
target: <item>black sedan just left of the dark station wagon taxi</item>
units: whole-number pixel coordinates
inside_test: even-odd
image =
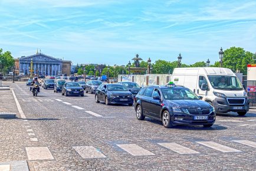
[[[96,90],[95,101],[104,101],[109,104],[129,104],[133,105],[133,94],[120,84],[101,84]]]

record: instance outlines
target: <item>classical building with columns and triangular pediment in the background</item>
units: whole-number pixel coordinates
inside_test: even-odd
[[[15,65],[19,67],[19,73],[22,75],[30,75],[31,61],[32,74],[35,75],[70,75],[71,61],[63,61],[60,58],[54,58],[41,52],[34,55],[24,56],[16,60]]]

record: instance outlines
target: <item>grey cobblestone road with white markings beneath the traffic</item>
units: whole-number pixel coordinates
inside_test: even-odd
[[[256,110],[217,116],[207,129],[165,129],[159,121],[137,120],[133,106],[98,104],[94,94],[65,97],[41,88],[33,97],[25,84],[9,85],[26,118],[0,119],[0,165],[27,160],[30,170],[256,170]],[[1,110],[18,113],[14,99],[5,98],[10,102]]]

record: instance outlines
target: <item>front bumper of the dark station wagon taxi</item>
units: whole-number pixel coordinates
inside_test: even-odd
[[[208,116],[207,120],[195,120],[194,116]],[[173,124],[182,124],[182,125],[204,125],[204,124],[214,124],[216,120],[215,112],[210,114],[199,114],[199,115],[192,115],[192,114],[173,114],[172,116],[172,123]]]

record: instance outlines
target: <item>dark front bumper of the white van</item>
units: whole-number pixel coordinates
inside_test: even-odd
[[[248,111],[250,108],[250,100],[248,100],[248,98],[245,98],[244,104],[229,104],[227,98],[216,97],[215,100],[212,101],[212,104],[214,105],[216,113]],[[237,109],[237,107],[241,108]]]

